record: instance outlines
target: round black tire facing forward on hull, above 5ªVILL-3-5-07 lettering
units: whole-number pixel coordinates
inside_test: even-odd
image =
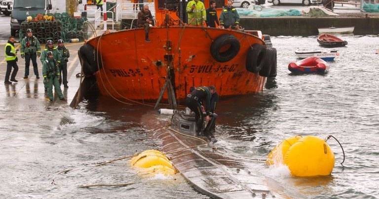
[[[226,48],[229,46],[226,50]],[[222,35],[211,44],[212,57],[218,62],[227,62],[233,59],[239,52],[241,45],[232,35]]]

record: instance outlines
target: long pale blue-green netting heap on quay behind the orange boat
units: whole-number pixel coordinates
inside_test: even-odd
[[[255,9],[236,8],[239,16],[248,17],[281,17],[281,16],[301,16],[302,13],[296,9],[277,9],[268,7],[255,7]]]

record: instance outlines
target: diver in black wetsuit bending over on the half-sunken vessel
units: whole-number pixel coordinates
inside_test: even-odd
[[[190,94],[188,94],[186,98],[186,106],[195,113],[197,134],[200,135],[200,132],[203,132],[211,140],[214,139],[212,131],[215,130],[217,118],[217,114],[215,114],[214,111],[216,109],[218,99],[219,96],[216,93],[216,88],[214,86],[192,88],[190,89]],[[205,103],[206,120],[209,121],[210,116],[212,116],[212,120],[208,122],[207,127],[203,131],[202,126],[204,116],[201,108],[202,102]]]

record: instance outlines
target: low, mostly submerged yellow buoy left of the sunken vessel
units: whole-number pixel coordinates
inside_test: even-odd
[[[131,159],[132,166],[145,168],[149,173],[175,174],[171,161],[160,151],[147,150]]]

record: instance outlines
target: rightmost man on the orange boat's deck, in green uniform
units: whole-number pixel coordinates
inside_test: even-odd
[[[223,8],[220,15],[220,28],[239,29],[239,15],[237,10],[231,6],[233,2],[228,0],[227,7]]]

